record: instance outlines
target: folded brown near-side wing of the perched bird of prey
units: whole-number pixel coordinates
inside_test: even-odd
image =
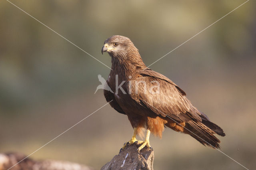
[[[192,119],[202,121],[200,112],[175,83],[155,71],[143,71],[140,71],[142,77],[138,77],[136,81],[129,84],[132,99],[163,117],[168,115],[183,122]]]

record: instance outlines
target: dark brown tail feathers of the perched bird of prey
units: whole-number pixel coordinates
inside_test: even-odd
[[[218,127],[216,124],[207,121],[208,124],[204,124],[203,122],[195,122],[195,121],[188,121],[186,123],[184,132],[189,134],[196,140],[198,140],[204,146],[210,146],[212,148],[220,148],[220,140],[214,136],[214,134],[219,134],[221,136],[225,136],[222,128]]]

